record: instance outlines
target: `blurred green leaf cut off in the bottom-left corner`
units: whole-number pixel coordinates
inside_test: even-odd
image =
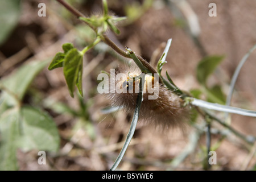
[[[18,109],[10,109],[0,117],[0,170],[17,170],[16,159],[17,143],[19,137]]]

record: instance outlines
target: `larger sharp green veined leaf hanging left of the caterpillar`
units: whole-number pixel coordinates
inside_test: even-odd
[[[74,97],[74,90],[77,84],[77,81],[80,79],[79,72],[81,72],[82,65],[82,53],[77,51],[76,48],[73,48],[67,52],[67,55],[64,58],[64,76],[68,85],[69,93],[71,97]],[[79,86],[81,86],[79,84]],[[81,89],[81,87],[79,88]]]

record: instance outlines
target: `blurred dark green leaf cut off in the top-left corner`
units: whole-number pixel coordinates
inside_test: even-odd
[[[0,44],[5,42],[12,30],[18,24],[20,15],[19,0],[0,1]]]

